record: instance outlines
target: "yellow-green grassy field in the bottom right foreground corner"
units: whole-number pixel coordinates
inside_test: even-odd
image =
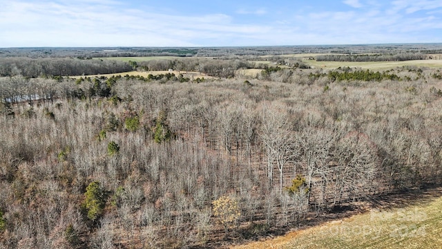
[[[427,199],[406,208],[371,210],[235,248],[440,248],[441,210],[442,197]]]

